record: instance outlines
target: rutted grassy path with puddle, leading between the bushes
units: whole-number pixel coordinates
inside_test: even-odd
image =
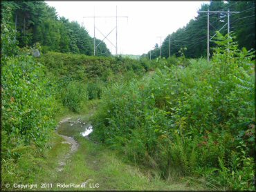
[[[88,113],[88,115],[91,115]],[[76,117],[77,118],[77,117]],[[81,117],[82,118],[82,117]],[[195,190],[205,189],[204,186],[188,186],[184,180],[180,182],[165,182],[152,175],[152,171],[141,171],[138,166],[122,162],[121,157],[100,144],[89,141],[86,130],[93,127],[88,119],[66,117],[56,127],[57,135],[64,138],[62,144],[70,146],[66,154],[62,154],[56,161],[53,179],[54,190],[60,190],[56,184],[75,184],[79,190]],[[84,130],[85,129],[85,130]],[[91,130],[92,131],[92,130]],[[80,136],[78,136],[78,134]],[[86,133],[86,134],[83,134]],[[91,133],[91,132],[90,132]],[[73,138],[75,135],[75,139]],[[68,137],[69,136],[69,137]],[[78,137],[77,137],[78,136]],[[82,137],[81,137],[82,136]],[[62,153],[62,152],[60,152]],[[60,154],[59,153],[59,154]],[[51,174],[49,174],[51,175]],[[66,186],[67,190],[77,191],[73,186]],[[63,188],[64,189],[64,188]],[[54,191],[53,190],[53,191]]]

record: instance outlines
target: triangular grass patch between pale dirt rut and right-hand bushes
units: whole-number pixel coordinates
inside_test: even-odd
[[[55,187],[51,190],[63,191],[57,188],[60,184],[82,184],[89,181],[85,188],[68,188],[66,190],[197,190],[201,186],[187,186],[188,183],[165,182],[157,177],[148,177],[138,167],[130,166],[120,160],[109,149],[76,136],[80,148],[66,163],[62,173],[51,180]],[[98,184],[98,188],[93,188]]]

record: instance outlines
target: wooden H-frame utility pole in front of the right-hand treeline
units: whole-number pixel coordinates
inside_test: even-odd
[[[230,13],[239,13],[239,11],[198,11],[198,12],[207,12],[207,15],[208,15],[208,18],[207,18],[207,60],[208,62],[210,61],[210,44],[209,44],[209,38],[210,38],[210,33],[209,33],[209,24],[210,24],[210,21],[209,21],[209,15],[210,13],[228,13],[228,37],[229,37],[229,33],[230,33],[230,21],[229,21],[229,16],[230,16]],[[225,25],[226,26],[226,25]],[[221,28],[222,29],[222,28]]]

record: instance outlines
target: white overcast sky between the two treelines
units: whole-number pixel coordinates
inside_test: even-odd
[[[203,3],[209,1],[46,1],[60,17],[83,23],[93,37],[93,17],[116,17],[118,8],[118,54],[142,55],[157,43],[160,36],[175,32],[197,16]],[[125,17],[128,17],[125,18]],[[96,18],[95,37],[104,39],[116,27],[116,18]],[[100,33],[102,32],[102,34]],[[111,41],[111,44],[109,41]],[[104,42],[116,54],[116,29]],[[164,38],[162,38],[163,41]]]

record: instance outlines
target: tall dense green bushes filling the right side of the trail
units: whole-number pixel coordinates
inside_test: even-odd
[[[165,178],[203,175],[228,190],[253,189],[254,52],[220,33],[215,43],[210,64],[156,59],[156,73],[105,88],[93,139]]]

